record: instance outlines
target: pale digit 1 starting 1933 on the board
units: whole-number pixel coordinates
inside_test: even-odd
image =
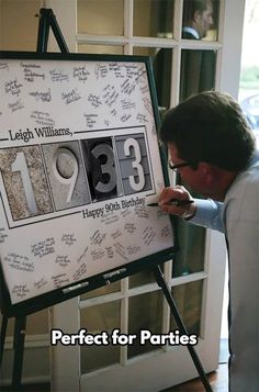
[[[12,164],[12,171],[20,171],[22,177],[22,183],[25,192],[25,198],[27,201],[27,208],[32,214],[38,212],[36,201],[34,198],[34,191],[32,187],[32,181],[29,175],[27,164],[24,153],[18,153],[14,163]]]

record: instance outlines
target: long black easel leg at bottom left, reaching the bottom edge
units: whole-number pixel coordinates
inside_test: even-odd
[[[19,389],[22,381],[23,350],[25,339],[26,316],[15,317],[14,327],[14,361],[12,371],[12,388]]]

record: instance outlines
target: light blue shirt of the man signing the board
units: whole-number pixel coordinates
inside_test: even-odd
[[[233,181],[224,203],[195,200],[190,220],[225,233],[229,266],[229,388],[259,391],[259,154]]]

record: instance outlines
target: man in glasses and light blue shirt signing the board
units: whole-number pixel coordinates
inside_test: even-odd
[[[259,391],[259,154],[238,103],[202,92],[168,111],[160,137],[170,166],[205,200],[166,188],[161,209],[225,233],[229,262],[229,389]],[[190,204],[168,205],[171,199]]]

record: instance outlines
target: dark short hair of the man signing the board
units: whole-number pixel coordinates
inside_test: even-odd
[[[217,91],[201,92],[170,109],[160,139],[174,144],[183,160],[206,161],[229,171],[245,169],[256,149],[239,104]]]

